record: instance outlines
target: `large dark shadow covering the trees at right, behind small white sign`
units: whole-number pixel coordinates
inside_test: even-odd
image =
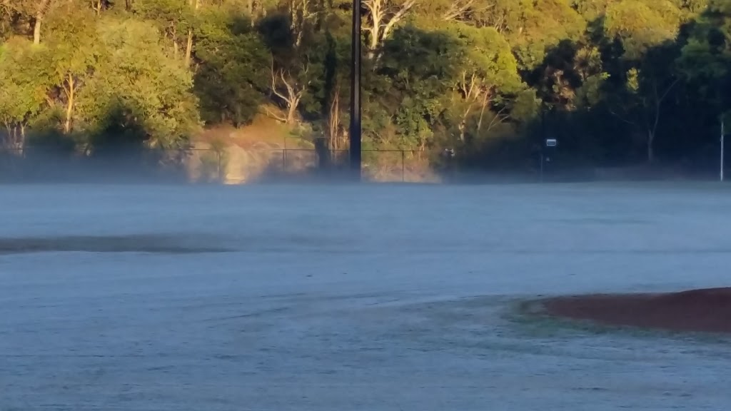
[[[705,12],[701,18],[719,17],[713,13]],[[624,168],[629,170],[628,178],[708,178],[718,173],[719,114],[731,107],[731,75],[691,79],[680,67],[683,47],[704,25],[691,20],[679,27],[678,37],[672,41],[627,55],[623,42],[608,36],[603,23],[601,18],[590,22],[586,34],[589,45],[599,48],[602,70],[607,74],[598,101],[570,107],[561,94],[564,87],[570,95],[586,84],[577,54],[581,44],[560,42],[548,50],[540,67],[525,73],[524,78],[545,103],[543,115],[529,125],[536,146],[545,137],[557,138],[561,166],[567,169]],[[708,53],[721,56],[721,50],[727,48],[724,35],[710,29],[705,37]],[[731,67],[730,62],[726,64]],[[635,78],[630,74],[632,68],[639,72]],[[556,73],[561,74],[563,84],[556,82]],[[648,139],[649,133],[654,140]],[[648,162],[649,144],[655,162]]]

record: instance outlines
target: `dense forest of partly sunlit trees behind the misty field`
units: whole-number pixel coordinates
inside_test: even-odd
[[[5,148],[184,147],[276,118],[347,149],[350,0],[0,0]],[[363,147],[718,167],[731,0],[363,0]]]

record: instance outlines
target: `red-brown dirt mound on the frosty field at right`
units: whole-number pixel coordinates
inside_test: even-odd
[[[731,333],[731,287],[662,294],[577,295],[542,301],[546,314],[606,325]]]

